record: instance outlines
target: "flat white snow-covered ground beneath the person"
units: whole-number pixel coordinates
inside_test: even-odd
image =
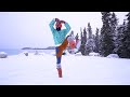
[[[58,78],[52,54],[0,58],[0,85],[130,85],[130,59],[62,56]]]

